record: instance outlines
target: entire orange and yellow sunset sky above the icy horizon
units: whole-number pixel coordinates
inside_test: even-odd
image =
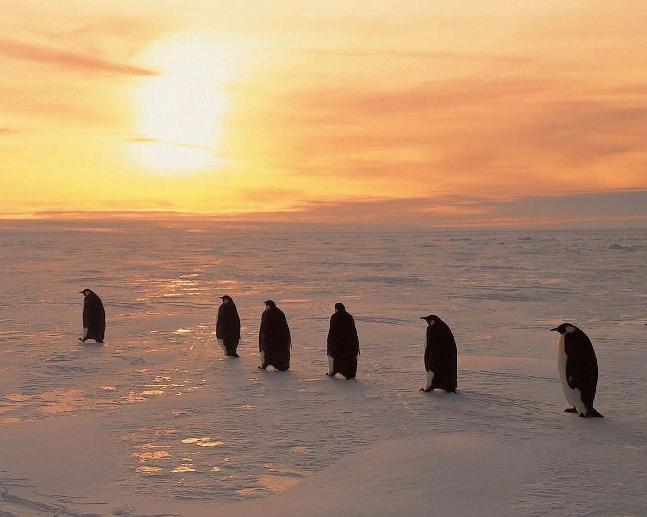
[[[3,0],[0,218],[647,227],[644,0]]]

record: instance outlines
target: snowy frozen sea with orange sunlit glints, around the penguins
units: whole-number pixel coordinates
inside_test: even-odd
[[[647,231],[0,224],[0,516],[647,514]],[[105,344],[80,343],[83,295]],[[218,297],[240,359],[215,340]],[[267,299],[291,370],[258,365]],[[353,381],[325,377],[335,302]],[[421,393],[420,319],[459,350]],[[604,419],[565,414],[549,332],[591,338]]]

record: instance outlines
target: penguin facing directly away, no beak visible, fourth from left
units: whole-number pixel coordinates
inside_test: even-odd
[[[357,358],[360,355],[360,339],[355,328],[355,320],[344,307],[334,304],[334,313],[330,317],[326,353],[328,371],[326,375],[334,377],[342,374],[346,379],[355,379]]]

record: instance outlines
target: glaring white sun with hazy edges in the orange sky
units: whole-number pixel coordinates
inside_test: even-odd
[[[158,43],[144,56],[160,74],[135,92],[137,137],[129,145],[148,170],[185,173],[222,161],[225,54],[217,43],[184,38]]]

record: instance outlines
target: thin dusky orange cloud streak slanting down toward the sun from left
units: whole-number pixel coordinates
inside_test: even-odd
[[[135,65],[111,63],[96,56],[78,54],[69,50],[59,50],[43,45],[34,45],[32,43],[12,41],[10,39],[0,39],[0,54],[11,58],[25,59],[38,63],[49,63],[67,68],[97,70],[100,72],[127,74],[131,76],[158,75],[158,72],[155,70],[149,70]]]

